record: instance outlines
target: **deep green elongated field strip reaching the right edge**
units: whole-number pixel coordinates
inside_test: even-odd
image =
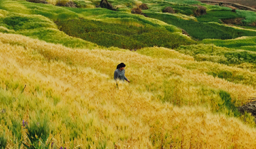
[[[199,40],[203,40],[206,38],[225,40],[231,38],[238,38],[241,36],[256,35],[255,31],[248,31],[233,28],[230,26],[223,26],[219,23],[203,23],[199,21],[184,20],[174,15],[169,15],[165,13],[151,13],[149,11],[144,12],[147,16],[151,18],[157,18],[171,25],[183,28],[185,31],[188,32],[189,35]]]

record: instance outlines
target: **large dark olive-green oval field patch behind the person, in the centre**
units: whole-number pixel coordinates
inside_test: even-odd
[[[73,19],[56,22],[60,31],[73,37],[82,38],[105,47],[115,46],[124,49],[164,46],[177,48],[179,45],[195,43],[181,33],[171,33],[158,26],[126,26],[87,19]]]

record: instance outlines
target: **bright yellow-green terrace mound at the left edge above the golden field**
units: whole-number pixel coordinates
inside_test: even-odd
[[[26,35],[71,48],[95,48],[97,46],[80,38],[66,35],[58,30],[53,21],[40,15],[9,13],[4,18],[0,18],[0,32]]]

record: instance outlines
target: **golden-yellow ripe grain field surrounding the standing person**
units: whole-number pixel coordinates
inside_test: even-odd
[[[193,62],[186,55],[178,58]],[[210,93],[218,89],[240,102],[255,90],[187,70],[174,61],[176,57],[150,57],[128,50],[70,49],[0,33],[1,92],[18,96],[19,87],[8,90],[6,85],[27,85],[11,106],[1,104],[7,120],[1,121],[1,127],[11,138],[10,118],[29,122],[39,112],[49,116],[50,137],[58,148],[69,147],[75,133],[77,148],[100,148],[101,143],[108,148],[255,148],[255,128],[238,118],[213,114],[212,107],[205,106],[219,98]],[[132,83],[118,82],[117,89],[112,76],[119,62],[127,65],[126,76]],[[176,83],[178,95],[173,97],[185,104],[159,101],[163,82]],[[200,92],[201,87],[209,96]],[[8,148],[14,146],[9,141]]]

